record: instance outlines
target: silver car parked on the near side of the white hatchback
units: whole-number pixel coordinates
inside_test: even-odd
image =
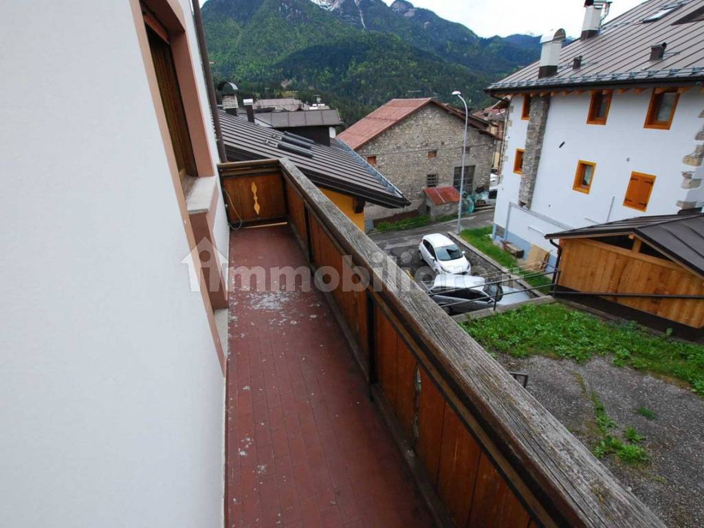
[[[483,277],[438,275],[428,295],[447,313],[465,313],[490,308],[503,298],[501,284],[486,284]]]

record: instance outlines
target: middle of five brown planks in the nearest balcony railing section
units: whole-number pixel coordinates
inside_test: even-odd
[[[440,467],[445,398],[426,374],[420,369],[420,394],[418,394],[418,441],[416,453],[425,466],[430,479],[437,486]]]

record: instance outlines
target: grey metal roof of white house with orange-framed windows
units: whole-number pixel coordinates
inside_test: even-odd
[[[669,7],[673,9],[668,10]],[[704,22],[677,22],[703,8],[704,0],[645,1],[603,25],[596,37],[564,46],[555,75],[539,79],[536,62],[491,84],[487,91],[510,93],[532,87],[701,80]],[[643,22],[660,11],[666,11],[662,18]],[[650,61],[650,47],[663,42],[667,42],[665,56]],[[572,62],[579,56],[582,66],[574,70]]]

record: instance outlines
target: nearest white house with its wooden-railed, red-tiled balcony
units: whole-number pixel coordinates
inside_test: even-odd
[[[219,163],[197,0],[0,26],[4,527],[663,526],[313,176]]]

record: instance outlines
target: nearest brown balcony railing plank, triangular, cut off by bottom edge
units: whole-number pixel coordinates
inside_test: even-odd
[[[531,517],[510,490],[491,460],[482,453],[472,513],[467,526],[482,528],[525,528]]]

